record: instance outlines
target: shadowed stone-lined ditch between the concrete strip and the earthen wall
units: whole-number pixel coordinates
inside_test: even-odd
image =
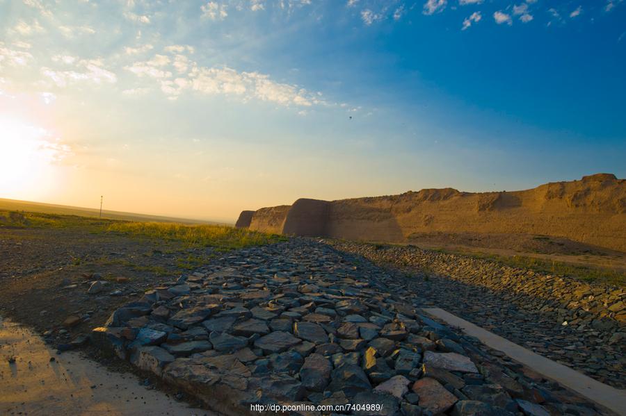
[[[611,324],[609,319],[600,322],[590,317],[583,320],[579,316],[579,312],[584,313],[580,306],[568,309],[556,300],[479,284],[481,281],[490,284],[491,281],[517,280],[520,285],[529,285],[531,279],[527,271],[417,247],[376,247],[353,242],[335,245],[378,264],[403,269],[401,272],[392,268],[387,272],[404,281],[422,306],[449,310],[602,383],[626,388],[626,324],[615,320]],[[587,299],[599,298],[609,291],[600,286],[588,286],[587,290]],[[589,313],[600,314],[602,308],[608,310],[607,306],[619,304],[620,298],[626,299],[625,292],[611,291],[607,301],[587,308]]]

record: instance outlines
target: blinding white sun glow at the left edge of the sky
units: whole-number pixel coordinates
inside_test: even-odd
[[[70,148],[45,128],[0,117],[0,197],[21,197],[49,188],[54,165]]]

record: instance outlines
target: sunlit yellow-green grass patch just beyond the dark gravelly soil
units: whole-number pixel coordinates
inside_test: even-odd
[[[161,222],[117,222],[111,224],[107,231],[132,238],[181,242],[186,247],[214,247],[218,250],[241,249],[286,240],[280,235],[245,228]]]

